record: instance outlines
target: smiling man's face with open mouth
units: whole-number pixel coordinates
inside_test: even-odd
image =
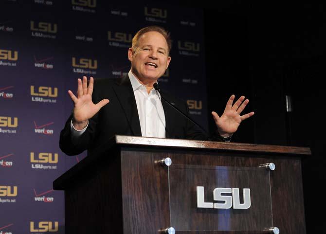
[[[162,34],[151,31],[138,40],[136,51],[128,50],[132,73],[143,82],[156,82],[169,66],[171,57]]]

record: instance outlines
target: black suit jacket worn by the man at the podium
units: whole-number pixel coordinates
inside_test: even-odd
[[[170,103],[188,115],[189,109],[184,101],[166,91],[161,95]],[[78,143],[71,141],[71,119],[66,122],[60,133],[60,148],[67,155],[80,154],[88,149],[89,155],[100,145],[105,144],[114,135],[142,136],[136,100],[129,77],[126,75],[117,81],[96,79],[92,100],[98,103],[108,98],[109,104],[89,120],[89,126],[80,136]],[[208,140],[209,137],[199,127],[162,101],[165,115],[165,137],[174,139]],[[218,138],[216,138],[218,140]],[[210,140],[216,140],[211,138]]]

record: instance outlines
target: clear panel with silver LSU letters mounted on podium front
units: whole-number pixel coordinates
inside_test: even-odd
[[[176,231],[273,227],[270,170],[172,163],[168,173],[171,226]]]

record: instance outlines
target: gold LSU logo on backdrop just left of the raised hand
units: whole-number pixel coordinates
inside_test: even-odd
[[[36,86],[31,85],[31,96],[33,102],[56,103],[56,99],[54,98],[58,97],[58,88],[47,86],[36,88]]]

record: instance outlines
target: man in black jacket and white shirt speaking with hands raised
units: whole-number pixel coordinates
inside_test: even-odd
[[[87,149],[90,155],[113,135],[228,140],[242,120],[254,115],[240,115],[249,100],[241,96],[233,104],[232,95],[221,116],[212,112],[217,132],[209,137],[175,109],[188,115],[185,102],[153,87],[171,62],[170,50],[171,38],[163,28],[145,27],[133,37],[128,49],[131,69],[126,76],[96,82],[91,77],[89,85],[86,76],[78,79],[77,96],[68,91],[74,108],[60,134],[61,150],[76,155]]]

